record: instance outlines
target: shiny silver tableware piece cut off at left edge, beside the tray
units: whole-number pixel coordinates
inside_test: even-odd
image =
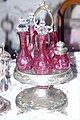
[[[7,91],[8,87],[11,84],[10,63],[11,63],[11,55],[6,51],[1,53],[0,54],[0,64],[1,64],[0,69],[2,70],[2,74],[0,72],[0,92]]]

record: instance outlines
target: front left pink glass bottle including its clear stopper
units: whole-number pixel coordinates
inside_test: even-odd
[[[21,18],[17,29],[20,40],[20,52],[16,58],[16,68],[20,71],[30,70],[33,60],[27,49],[26,35],[28,34],[28,28],[25,19]]]

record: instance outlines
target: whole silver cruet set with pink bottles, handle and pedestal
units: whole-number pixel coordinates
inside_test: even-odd
[[[46,11],[51,25],[36,16]],[[61,110],[67,105],[67,96],[54,88],[73,77],[65,43],[58,40],[57,25],[43,1],[29,19],[20,18],[17,26],[20,51],[13,76],[22,84],[33,85],[16,96],[16,105],[22,112],[29,109]]]

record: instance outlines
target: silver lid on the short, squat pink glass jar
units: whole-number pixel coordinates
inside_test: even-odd
[[[57,42],[56,47],[54,48],[54,53],[57,55],[64,55],[67,53],[67,48],[65,47],[64,42]]]

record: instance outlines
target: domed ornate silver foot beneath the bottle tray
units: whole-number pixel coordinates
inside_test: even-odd
[[[16,97],[16,105],[23,112],[31,109],[60,111],[67,106],[67,96],[53,86],[37,86],[20,92]]]

